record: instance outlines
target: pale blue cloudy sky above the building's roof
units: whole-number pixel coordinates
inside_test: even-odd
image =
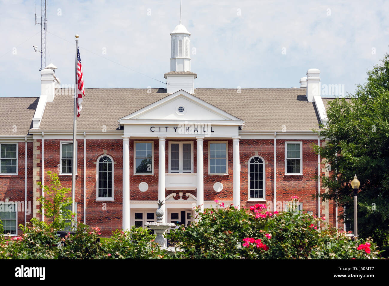
[[[62,84],[74,83],[78,33],[86,88],[166,87],[132,70],[165,81],[179,0],[47,2],[46,64],[58,67]],[[353,93],[389,51],[387,1],[182,2],[196,88],[290,88],[319,68],[322,84]],[[38,97],[35,0],[0,0],[0,10],[0,97]]]

